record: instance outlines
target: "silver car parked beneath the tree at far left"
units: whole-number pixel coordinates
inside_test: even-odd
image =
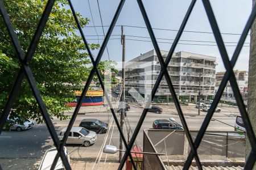
[[[31,120],[27,119],[23,124],[19,124],[18,120],[19,118],[14,118],[14,119],[7,118],[6,124],[13,125],[10,127],[10,130],[22,131],[22,130],[30,129],[34,126],[34,122]],[[4,129],[6,129],[6,127],[4,127]]]

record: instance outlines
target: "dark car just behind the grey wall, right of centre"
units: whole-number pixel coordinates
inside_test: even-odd
[[[155,120],[153,122],[154,129],[173,129],[173,130],[183,130],[183,127],[178,124],[174,118],[170,118],[170,120],[160,119]]]

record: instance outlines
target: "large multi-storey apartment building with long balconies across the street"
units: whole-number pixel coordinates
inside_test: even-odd
[[[168,52],[161,51],[164,61]],[[176,95],[180,99],[197,101],[199,91],[204,98],[214,96],[216,57],[188,52],[174,53],[167,67]],[[126,63],[126,92],[135,88],[148,97],[158,79],[161,66],[155,50],[141,54]],[[156,97],[171,96],[163,77]]]

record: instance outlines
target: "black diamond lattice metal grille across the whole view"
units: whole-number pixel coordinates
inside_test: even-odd
[[[174,40],[174,42],[173,42],[173,44],[171,46],[171,49],[170,49],[170,51],[168,53],[166,61],[164,61],[163,56],[160,53],[160,49],[159,49],[158,43],[156,41],[154,32],[152,31],[151,24],[150,24],[150,21],[149,21],[149,19],[147,17],[147,13],[146,13],[146,10],[144,9],[142,0],[137,0],[138,6],[139,6],[139,8],[141,10],[144,22],[146,23],[148,33],[149,33],[149,35],[151,37],[151,41],[152,41],[152,43],[154,45],[154,49],[156,51],[156,54],[158,56],[158,59],[159,59],[160,65],[161,65],[160,74],[158,76],[158,79],[156,80],[154,88],[152,89],[151,96],[149,97],[149,99],[153,99],[154,98],[154,96],[156,94],[156,91],[157,91],[157,89],[159,87],[160,81],[162,80],[162,78],[164,76],[166,78],[166,80],[167,80],[168,87],[170,88],[170,92],[171,92],[172,97],[174,99],[174,103],[175,103],[177,112],[179,113],[179,117],[180,117],[181,123],[182,123],[182,125],[184,127],[185,135],[187,136],[189,145],[191,147],[191,152],[189,153],[188,158],[187,158],[187,160],[185,162],[184,169],[188,169],[190,167],[193,158],[195,158],[195,160],[196,160],[197,167],[199,169],[202,169],[202,166],[201,166],[201,163],[200,163],[200,160],[199,160],[199,156],[197,155],[197,148],[199,148],[199,146],[200,146],[200,142],[201,142],[201,140],[202,140],[202,138],[204,136],[204,133],[205,133],[205,131],[206,131],[208,125],[209,125],[209,122],[210,122],[210,120],[211,120],[211,118],[213,116],[214,110],[217,107],[218,102],[220,101],[220,98],[221,98],[221,95],[222,95],[222,93],[224,91],[224,88],[225,88],[226,84],[228,83],[228,81],[230,81],[230,84],[232,86],[232,90],[234,92],[234,96],[236,97],[238,108],[239,108],[240,113],[242,115],[243,121],[245,122],[245,125],[246,125],[247,137],[249,138],[249,141],[250,141],[250,144],[251,144],[251,152],[250,152],[249,158],[247,159],[247,162],[245,164],[245,169],[251,169],[251,168],[253,168],[253,165],[254,165],[254,163],[256,161],[256,138],[255,138],[255,135],[253,133],[253,128],[251,126],[251,122],[250,122],[248,114],[246,112],[245,105],[243,104],[240,90],[239,90],[239,88],[237,86],[236,78],[235,78],[234,73],[233,73],[233,67],[236,64],[237,58],[238,58],[238,56],[239,56],[239,54],[241,52],[243,43],[245,42],[245,39],[246,39],[246,36],[247,36],[247,34],[248,34],[249,30],[250,30],[250,27],[251,27],[251,25],[254,22],[254,19],[255,19],[255,16],[256,16],[256,7],[255,6],[253,7],[253,10],[251,12],[250,18],[247,21],[247,23],[245,25],[245,28],[243,29],[243,32],[242,32],[242,35],[241,35],[240,40],[238,42],[238,45],[236,47],[236,50],[235,50],[235,52],[234,52],[234,54],[232,56],[232,59],[230,61],[229,57],[228,57],[228,54],[226,52],[225,45],[224,45],[224,42],[222,40],[221,33],[220,33],[219,28],[218,28],[215,16],[213,14],[213,10],[212,10],[212,7],[210,5],[210,2],[209,2],[209,0],[202,0],[202,1],[203,1],[203,4],[204,4],[205,11],[207,12],[207,16],[208,16],[208,19],[209,19],[209,22],[210,22],[210,26],[212,27],[213,34],[214,34],[214,37],[216,39],[218,49],[219,49],[221,57],[222,57],[222,61],[224,62],[226,73],[225,73],[224,78],[222,79],[222,82],[220,84],[220,88],[218,88],[216,97],[214,97],[213,103],[210,106],[210,109],[209,109],[209,111],[207,113],[207,116],[205,117],[204,122],[201,125],[200,131],[197,134],[195,142],[192,141],[191,134],[189,133],[187,122],[185,121],[183,112],[182,112],[180,104],[179,104],[179,100],[177,99],[177,96],[175,94],[174,86],[172,86],[170,75],[168,75],[167,66],[168,66],[168,63],[171,61],[172,54],[174,53],[176,45],[179,42],[181,34],[184,31],[185,25],[187,24],[187,21],[189,19],[189,16],[190,16],[192,10],[193,10],[193,7],[194,7],[194,5],[196,3],[196,0],[192,0],[191,5],[188,8],[187,14],[185,15],[185,17],[183,19],[183,22],[180,25],[179,32],[177,32],[176,38],[175,38],[175,40]],[[32,71],[30,69],[30,62],[31,62],[32,57],[33,57],[33,55],[35,53],[35,50],[36,50],[36,48],[38,46],[38,42],[40,40],[40,36],[42,35],[44,27],[46,26],[47,20],[49,18],[49,15],[51,14],[51,10],[52,10],[52,7],[53,7],[54,3],[55,3],[54,0],[49,0],[48,1],[47,5],[46,5],[46,8],[45,8],[45,10],[43,12],[42,18],[40,19],[40,22],[39,22],[38,27],[36,29],[35,35],[34,35],[32,41],[31,41],[31,44],[30,44],[28,50],[27,50],[27,53],[24,54],[24,52],[23,52],[23,50],[22,50],[22,48],[21,48],[21,46],[19,44],[18,38],[16,36],[16,33],[14,31],[13,25],[12,25],[12,23],[10,21],[9,15],[7,14],[7,11],[6,11],[5,5],[3,3],[3,0],[0,0],[1,16],[2,16],[2,18],[3,18],[3,20],[4,20],[5,24],[6,24],[6,28],[7,28],[8,32],[9,32],[10,39],[13,42],[13,46],[15,48],[16,55],[19,58],[19,61],[20,61],[20,64],[21,64],[18,76],[16,77],[15,83],[13,85],[13,88],[12,88],[11,92],[10,92],[9,99],[6,101],[5,108],[3,109],[3,112],[2,112],[1,117],[0,117],[0,133],[1,133],[2,129],[3,129],[3,125],[5,125],[5,121],[6,121],[7,117],[8,117],[8,115],[9,115],[9,113],[11,111],[11,107],[12,107],[12,105],[14,103],[15,97],[18,94],[20,84],[21,84],[22,80],[26,77],[28,82],[29,82],[29,84],[30,84],[31,90],[32,90],[32,92],[33,92],[33,94],[35,96],[35,99],[36,99],[36,101],[37,101],[37,103],[39,105],[40,111],[42,112],[42,116],[43,116],[43,118],[44,118],[44,120],[46,122],[48,131],[51,134],[52,140],[53,140],[53,142],[54,142],[54,144],[55,144],[55,146],[56,146],[56,148],[58,150],[58,154],[56,155],[56,158],[53,161],[51,169],[54,169],[54,167],[55,167],[59,157],[63,161],[65,168],[66,169],[71,169],[71,167],[70,167],[70,165],[68,163],[67,157],[64,154],[63,147],[64,147],[64,145],[65,145],[65,143],[67,141],[69,131],[71,130],[72,125],[74,124],[74,122],[76,120],[77,114],[78,114],[78,112],[80,110],[80,107],[81,107],[81,104],[82,104],[82,99],[84,98],[84,96],[86,94],[86,91],[88,91],[90,82],[92,82],[94,74],[97,75],[97,77],[98,77],[98,79],[100,81],[100,84],[101,84],[102,88],[105,91],[104,83],[102,82],[100,73],[99,73],[99,71],[97,69],[97,65],[98,65],[98,63],[101,60],[101,57],[102,57],[102,54],[104,53],[106,45],[108,44],[110,35],[112,34],[114,25],[117,22],[118,16],[119,16],[119,14],[120,14],[120,12],[122,10],[122,7],[123,7],[123,5],[125,3],[125,0],[121,0],[119,2],[119,5],[118,5],[117,10],[115,11],[115,15],[114,15],[114,18],[112,20],[112,23],[110,24],[109,30],[108,30],[108,32],[106,34],[106,37],[104,39],[104,42],[102,43],[102,46],[100,48],[100,52],[98,53],[96,59],[94,59],[93,56],[92,56],[92,52],[90,51],[90,48],[89,48],[89,45],[88,45],[88,43],[86,41],[85,35],[82,32],[79,20],[77,19],[77,16],[76,16],[76,12],[75,12],[75,10],[74,10],[74,8],[72,6],[72,2],[70,0],[68,0],[69,6],[71,7],[73,16],[74,16],[74,18],[76,20],[77,27],[79,28],[80,34],[82,36],[82,40],[84,41],[86,49],[88,50],[89,57],[90,57],[90,59],[92,61],[93,69],[90,71],[88,80],[86,81],[86,84],[84,86],[84,90],[82,91],[82,94],[80,96],[79,103],[77,104],[76,109],[75,109],[75,111],[74,111],[74,113],[72,115],[71,121],[69,122],[69,125],[68,125],[68,128],[67,128],[67,133],[65,133],[64,138],[61,141],[57,137],[57,134],[56,134],[56,131],[55,131],[54,126],[52,124],[52,121],[49,118],[46,106],[45,106],[45,104],[44,104],[44,102],[42,100],[42,97],[40,95],[40,91],[38,90],[38,87],[36,86],[36,82],[35,82],[33,73],[32,73]],[[119,133],[121,134],[121,137],[122,137],[123,142],[124,142],[125,147],[126,147],[125,155],[123,156],[123,159],[122,159],[118,169],[122,169],[123,168],[123,166],[125,164],[125,161],[128,158],[128,156],[130,157],[131,162],[133,163],[134,169],[137,169],[137,167],[135,166],[133,157],[131,156],[131,152],[130,151],[131,151],[131,148],[132,148],[132,146],[133,146],[133,144],[135,142],[135,139],[136,139],[136,137],[137,137],[137,135],[139,133],[139,130],[141,129],[141,126],[142,126],[142,123],[144,121],[144,118],[147,115],[148,109],[144,109],[143,110],[142,116],[139,119],[138,125],[135,128],[134,134],[131,137],[131,140],[130,140],[130,142],[128,144],[126,139],[125,139],[125,137],[124,137],[123,131],[121,130],[121,127],[119,125],[119,122],[118,122],[117,116],[116,116],[116,114],[114,112],[114,109],[112,108],[112,104],[110,103],[108,94],[105,94],[105,96],[106,96],[106,100],[108,101],[108,104],[109,104],[109,106],[111,108],[110,110],[111,110],[111,112],[113,114],[113,117],[114,117],[114,120],[115,120],[115,124],[117,124]],[[148,101],[146,106],[149,106],[150,102],[151,101]],[[146,107],[146,108],[148,108],[148,107]]]

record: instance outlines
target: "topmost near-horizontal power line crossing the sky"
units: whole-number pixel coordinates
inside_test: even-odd
[[[122,25],[115,25],[115,27],[121,27]],[[93,26],[88,26],[88,28]],[[95,27],[109,27],[109,25],[102,25],[102,26],[95,26]],[[131,27],[131,28],[143,28],[147,29],[147,27],[141,27],[141,26],[134,26],[134,25],[123,25],[123,27]],[[152,28],[156,30],[162,30],[162,31],[179,31],[178,29],[167,29],[167,28]],[[207,34],[213,34],[213,32],[207,32],[207,31],[191,31],[191,30],[184,30],[183,32],[191,32],[191,33],[207,33]],[[241,33],[228,33],[228,32],[222,32],[222,35],[242,35]],[[250,34],[248,34],[250,35]]]

